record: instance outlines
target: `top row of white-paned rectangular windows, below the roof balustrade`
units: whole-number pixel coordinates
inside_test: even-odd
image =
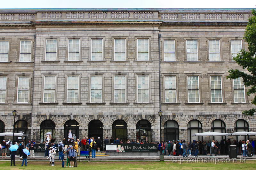
[[[126,60],[126,40],[114,40],[114,60]],[[31,61],[32,41],[20,41],[20,62]],[[57,60],[57,39],[47,39],[45,61]],[[242,40],[231,40],[232,61],[242,49]],[[187,61],[198,61],[197,40],[186,40]],[[9,41],[0,41],[0,62],[8,62]],[[175,40],[164,40],[164,61],[176,61]],[[149,60],[149,40],[137,39],[137,60]],[[68,40],[68,61],[79,61],[80,39]],[[91,60],[103,60],[103,39],[92,39]],[[209,61],[220,61],[220,40],[209,40]]]

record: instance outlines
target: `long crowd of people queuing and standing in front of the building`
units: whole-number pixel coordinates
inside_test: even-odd
[[[74,137],[69,138],[68,141],[64,138],[62,141],[57,142],[54,138],[52,140],[45,140],[45,152],[44,156],[47,157],[50,161],[51,166],[55,166],[55,155],[56,152],[59,153],[59,160],[62,161],[62,167],[65,167],[64,159],[65,155],[67,156],[67,163],[66,167],[77,167],[77,157],[79,156],[80,151],[90,151],[92,152],[92,158],[96,157],[96,151],[104,150],[106,151],[106,144],[125,144],[125,143],[131,143],[131,144],[144,144],[144,141],[139,140],[130,140],[130,139],[119,139],[119,138],[113,138],[111,137],[108,139],[108,137],[105,137],[104,139],[104,145],[103,148],[102,145],[103,141],[98,137],[97,139],[94,139],[94,137],[83,137],[83,139],[80,141],[79,139],[74,140]],[[146,143],[149,143],[146,141]],[[0,150],[2,150],[2,158],[6,158],[7,152],[9,152],[9,147],[13,144],[11,140],[9,139],[7,142],[5,140],[2,141],[2,144],[0,144]],[[14,144],[18,145],[17,151],[10,151],[11,156],[11,166],[15,165],[15,156],[19,155],[20,158],[22,158],[22,164],[28,166],[28,155],[23,152],[23,149],[27,149],[30,153],[30,158],[35,158],[35,144],[36,142],[33,140],[29,140],[28,143],[25,143],[24,140],[20,141],[19,143],[14,142]],[[159,142],[151,142],[151,144],[157,144],[158,145],[158,151],[162,152],[164,155],[175,155],[175,156],[194,156],[198,157],[198,154],[201,155],[208,155],[212,156],[213,154],[215,156],[217,155],[225,155],[228,154],[228,145],[236,145],[237,148],[237,154],[242,154],[244,157],[251,157],[252,155],[256,154],[255,144],[256,140],[240,140],[237,142],[236,140],[231,141],[230,139],[226,140],[223,139],[220,142],[212,140],[210,141],[203,141],[201,142],[193,140],[193,142],[186,142],[185,140],[179,140],[179,141],[162,141]],[[89,156],[86,156],[88,158]]]

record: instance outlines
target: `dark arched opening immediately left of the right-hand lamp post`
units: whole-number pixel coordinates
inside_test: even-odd
[[[147,120],[140,120],[136,124],[136,140],[151,142],[151,123]],[[137,141],[136,141],[137,142]]]

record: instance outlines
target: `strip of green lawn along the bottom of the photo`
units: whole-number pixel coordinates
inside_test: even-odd
[[[16,166],[10,166],[10,161],[0,161],[1,169],[29,169],[29,170],[54,170],[54,169],[67,169],[61,168],[61,162],[56,161],[55,166],[50,166],[48,161],[29,161],[28,166],[20,166],[21,161],[16,161]],[[102,162],[78,162],[78,169],[138,169],[138,170],[152,170],[152,169],[193,169],[193,170],[205,170],[205,169],[246,169],[255,170],[256,160],[246,161],[246,163],[173,163],[171,161],[102,161]],[[69,167],[68,167],[69,169]]]

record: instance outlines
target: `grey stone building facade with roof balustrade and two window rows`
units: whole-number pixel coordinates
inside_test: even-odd
[[[57,140],[68,137],[69,120],[79,124],[76,137],[111,137],[113,123],[123,120],[127,138],[156,142],[161,107],[165,140],[201,139],[192,133],[213,130],[215,120],[222,122],[215,128],[226,132],[242,129],[242,122],[245,130],[256,131],[256,117],[241,114],[253,107],[252,96],[243,96],[247,88],[234,89],[226,79],[229,68],[241,70],[232,54],[247,47],[243,35],[251,15],[251,9],[2,9],[0,42],[8,48],[0,62],[0,77],[6,78],[1,130],[12,132],[12,110],[17,110],[15,122],[27,124],[16,129],[36,141],[49,129]],[[123,86],[115,89],[118,76]],[[22,78],[28,78],[27,86]],[[53,123],[43,127],[46,120]],[[90,129],[94,120],[102,125],[98,121]],[[140,120],[151,125],[147,132],[138,127]],[[177,124],[167,125],[170,120]],[[144,135],[136,135],[136,125]]]

